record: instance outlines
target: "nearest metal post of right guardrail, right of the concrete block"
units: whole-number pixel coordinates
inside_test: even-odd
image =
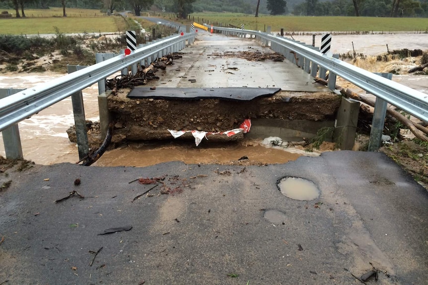
[[[392,79],[392,73],[375,73],[375,74],[385,77],[389,80]],[[371,131],[370,131],[370,138],[368,140],[367,151],[378,151],[380,148],[387,107],[388,107],[388,102],[386,102],[385,100],[379,97],[376,97],[376,102],[374,103],[374,113],[373,113],[373,119],[371,121]]]

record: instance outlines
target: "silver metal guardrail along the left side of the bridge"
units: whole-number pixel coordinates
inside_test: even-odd
[[[121,69],[140,62],[144,58],[178,52],[186,46],[186,41],[191,44],[194,39],[194,33],[171,36],[140,48],[128,56],[120,55],[110,58],[64,75],[56,80],[3,98],[0,100],[0,131],[103,80]]]

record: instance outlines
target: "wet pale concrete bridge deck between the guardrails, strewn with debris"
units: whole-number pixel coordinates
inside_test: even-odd
[[[260,46],[255,39],[227,37],[221,34],[198,32],[196,41],[183,49],[183,60],[176,60],[175,68],[168,66],[156,73],[159,87],[275,87],[284,91],[321,92],[328,89],[312,84],[310,75],[295,64],[284,60],[249,61],[238,54],[273,53]],[[160,75],[159,75],[160,74]],[[196,82],[190,81],[195,79]]]

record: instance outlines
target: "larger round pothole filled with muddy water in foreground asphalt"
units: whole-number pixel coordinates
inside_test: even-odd
[[[278,183],[278,188],[286,197],[294,200],[313,200],[320,194],[312,181],[298,177],[282,178]]]

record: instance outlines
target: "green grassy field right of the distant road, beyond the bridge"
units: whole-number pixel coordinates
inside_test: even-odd
[[[303,31],[384,31],[384,32],[428,32],[428,18],[382,18],[382,17],[304,17],[304,16],[271,16],[261,15],[258,18],[252,15],[232,13],[194,13],[191,19],[204,23],[219,23],[224,25],[240,26],[245,29],[264,30],[271,26],[272,31],[284,28],[287,32]]]

